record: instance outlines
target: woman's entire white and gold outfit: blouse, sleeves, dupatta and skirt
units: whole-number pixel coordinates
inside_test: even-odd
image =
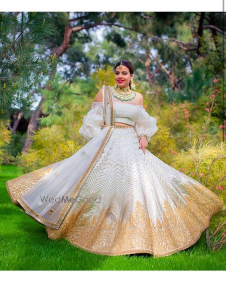
[[[143,106],[115,102],[111,88],[103,86],[102,103],[93,103],[79,130],[89,142],[68,159],[9,180],[11,198],[45,225],[49,238],[66,238],[93,253],[166,256],[185,249],[223,202],[139,149],[139,137],[150,140],[157,130]],[[44,204],[40,195],[76,200]]]

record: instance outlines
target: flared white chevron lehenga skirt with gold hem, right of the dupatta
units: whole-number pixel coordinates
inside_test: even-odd
[[[223,205],[208,188],[139,149],[134,127],[114,128],[59,229],[65,238],[105,255],[166,256],[193,245]]]

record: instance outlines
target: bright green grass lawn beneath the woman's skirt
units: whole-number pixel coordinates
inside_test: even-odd
[[[90,253],[66,239],[51,240],[44,225],[15,206],[6,181],[19,176],[13,165],[0,171],[1,270],[225,270],[226,249],[212,252],[205,231],[191,247],[165,257],[149,254],[108,256]]]

